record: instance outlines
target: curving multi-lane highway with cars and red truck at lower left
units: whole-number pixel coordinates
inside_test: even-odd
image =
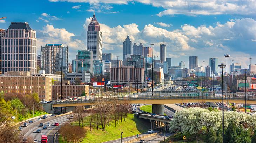
[[[20,124],[22,126],[22,131],[20,131],[21,134],[23,134],[25,137],[32,137],[32,139],[37,139],[39,143],[41,142],[41,135],[47,135],[48,136],[48,143],[53,142],[53,136],[56,133],[56,131],[59,130],[60,126],[53,126],[54,123],[58,122],[60,125],[63,125],[65,122],[69,121],[67,118],[69,115],[63,115],[59,117],[48,117],[47,119],[42,120],[32,120],[33,123],[28,123],[27,127],[23,127],[23,123]],[[39,124],[43,123],[43,125],[46,125],[47,123],[51,123],[51,126],[48,126],[47,129],[42,129],[43,127],[39,127]],[[37,129],[41,129],[41,133],[36,133]]]

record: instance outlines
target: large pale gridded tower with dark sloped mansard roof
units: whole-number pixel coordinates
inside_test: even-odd
[[[36,74],[36,31],[26,22],[12,22],[2,37],[1,72]]]

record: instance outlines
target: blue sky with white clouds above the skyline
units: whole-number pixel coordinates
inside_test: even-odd
[[[209,58],[230,60],[247,67],[249,57],[256,59],[256,2],[254,1],[187,1],[187,0],[14,0],[2,1],[0,28],[11,22],[28,22],[36,30],[38,54],[41,45],[64,43],[69,46],[70,59],[76,50],[85,49],[90,17],[95,10],[103,32],[103,52],[122,57],[126,35],[144,46],[167,44],[167,57],[172,65],[198,55],[199,64]],[[255,60],[252,60],[255,61]],[[255,62],[253,62],[255,63]],[[255,63],[256,64],[256,63]]]

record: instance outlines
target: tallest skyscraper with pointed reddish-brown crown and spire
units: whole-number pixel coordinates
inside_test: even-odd
[[[87,50],[93,52],[93,60],[102,60],[102,33],[95,13],[93,13],[92,21],[88,25]]]

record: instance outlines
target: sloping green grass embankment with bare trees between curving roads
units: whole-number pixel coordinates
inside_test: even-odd
[[[90,131],[90,124],[87,118],[85,118],[84,126],[87,133],[82,143],[100,143],[119,139],[121,131],[123,132],[123,137],[133,136],[146,132],[150,127],[149,122],[144,122],[143,119],[139,119],[133,114],[128,114],[125,121],[122,119],[122,122],[121,120],[119,120],[118,124],[116,122],[116,127],[115,121],[111,121],[109,127],[107,124],[105,125],[105,130],[97,130],[97,127],[92,127],[92,131]],[[61,136],[59,137],[59,143],[66,143],[62,142]]]

